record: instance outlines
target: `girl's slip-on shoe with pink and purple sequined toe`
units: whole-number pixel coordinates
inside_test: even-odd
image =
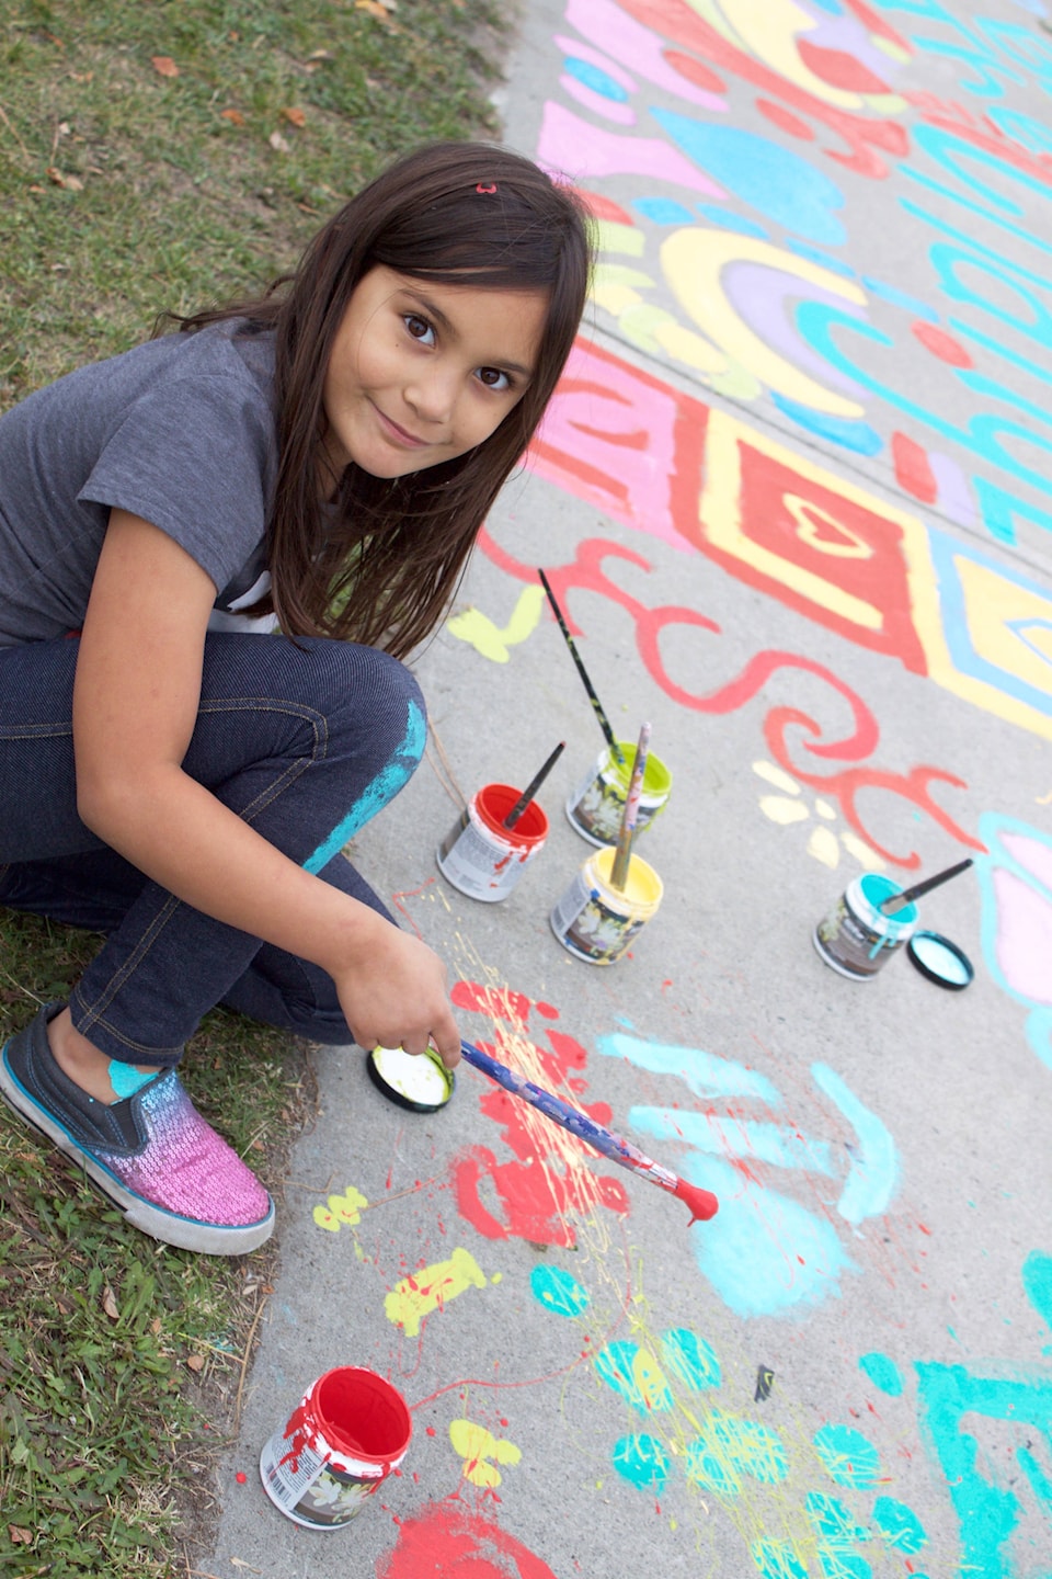
[[[274,1203],[203,1121],[173,1069],[107,1107],[58,1067],[46,1004],[0,1058],[0,1096],[80,1164],[136,1228],[207,1255],[243,1255],[270,1238]]]

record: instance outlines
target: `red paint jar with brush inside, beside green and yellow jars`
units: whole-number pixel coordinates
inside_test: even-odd
[[[514,827],[503,826],[519,796],[511,785],[484,785],[438,845],[438,870],[468,898],[487,905],[506,898],[547,838],[547,816],[536,801]]]

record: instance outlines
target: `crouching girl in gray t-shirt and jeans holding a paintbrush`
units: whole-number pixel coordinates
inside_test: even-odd
[[[158,1240],[240,1254],[273,1228],[175,1072],[216,1003],[459,1058],[440,960],[341,851],[423,753],[399,660],[543,415],[587,276],[566,188],[442,144],[262,298],[0,418],[0,903],[106,933],[0,1091]]]

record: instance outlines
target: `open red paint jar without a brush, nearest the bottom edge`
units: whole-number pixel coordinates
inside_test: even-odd
[[[326,1371],[260,1453],[263,1491],[308,1530],[341,1528],[397,1468],[412,1434],[405,1399],[375,1371]]]

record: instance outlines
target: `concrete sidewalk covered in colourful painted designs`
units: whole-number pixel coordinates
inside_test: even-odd
[[[467,1037],[721,1211],[689,1227],[472,1069],[426,1116],[317,1053],[203,1571],[1052,1571],[1044,14],[528,6],[506,139],[591,194],[595,322],[416,665],[429,759],[355,859],[448,960]],[[661,910],[612,968],[549,927],[602,737],[538,565],[673,772],[640,842]],[[459,793],[560,739],[541,856],[462,897],[434,859]],[[965,856],[923,902],[965,992],[820,962],[860,872]],[[315,1533],[256,1465],[339,1364],[415,1432]]]

